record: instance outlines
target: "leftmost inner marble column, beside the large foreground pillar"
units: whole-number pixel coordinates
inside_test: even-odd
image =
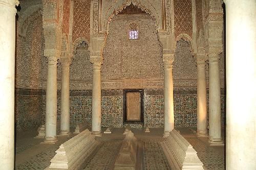
[[[44,143],[57,141],[57,57],[47,58],[46,136]]]

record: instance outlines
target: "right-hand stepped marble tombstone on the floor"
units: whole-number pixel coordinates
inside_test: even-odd
[[[161,142],[161,146],[171,169],[203,169],[197,152],[175,129],[166,141]]]

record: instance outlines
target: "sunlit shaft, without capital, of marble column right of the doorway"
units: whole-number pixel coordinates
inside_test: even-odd
[[[174,129],[173,68],[164,68],[164,135]]]

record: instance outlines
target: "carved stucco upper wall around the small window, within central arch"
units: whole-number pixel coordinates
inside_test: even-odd
[[[131,23],[138,26],[138,39],[129,39]],[[163,78],[162,50],[153,19],[147,14],[115,16],[103,58],[102,79]]]

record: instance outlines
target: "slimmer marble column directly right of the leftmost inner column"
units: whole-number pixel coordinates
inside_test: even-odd
[[[70,58],[61,58],[60,133],[70,134]]]

